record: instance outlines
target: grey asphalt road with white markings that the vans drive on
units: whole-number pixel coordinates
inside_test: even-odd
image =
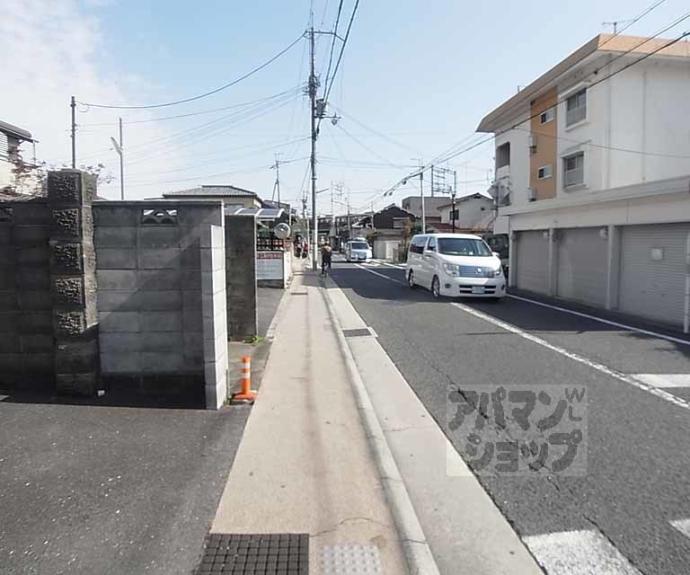
[[[570,553],[586,572],[690,573],[690,345],[516,299],[434,301],[391,266],[332,276],[465,459],[449,384],[586,387],[585,474],[480,476],[544,565]]]

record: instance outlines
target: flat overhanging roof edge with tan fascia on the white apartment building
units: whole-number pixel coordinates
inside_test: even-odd
[[[477,127],[477,132],[495,132],[506,122],[514,120],[525,106],[541,95],[544,91],[566,72],[580,64],[593,54],[651,54],[656,50],[655,56],[690,58],[690,43],[676,42],[663,48],[672,40],[663,38],[646,38],[643,36],[623,36],[613,34],[599,34],[589,42],[575,50],[564,60],[561,60],[553,68],[542,74],[531,84],[520,90],[512,98],[503,102],[498,108],[489,112]],[[663,49],[661,49],[663,48]]]

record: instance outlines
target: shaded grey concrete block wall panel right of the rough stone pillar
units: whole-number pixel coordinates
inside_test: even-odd
[[[156,392],[204,378],[202,237],[220,201],[96,202],[100,358],[110,382]]]

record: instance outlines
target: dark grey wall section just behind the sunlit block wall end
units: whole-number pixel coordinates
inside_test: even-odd
[[[256,305],[256,221],[251,216],[225,218],[225,269],[228,336],[242,339],[258,334]]]

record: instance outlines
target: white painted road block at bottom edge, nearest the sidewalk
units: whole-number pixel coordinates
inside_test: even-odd
[[[524,537],[549,575],[641,575],[599,531],[563,531]]]

